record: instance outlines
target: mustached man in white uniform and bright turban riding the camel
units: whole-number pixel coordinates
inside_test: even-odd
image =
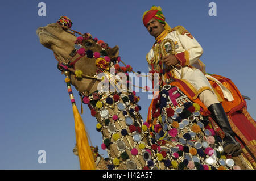
[[[196,39],[182,26],[170,28],[165,21],[162,9],[152,6],[143,14],[143,24],[150,35],[155,37],[155,44],[148,52],[146,59],[150,72],[161,74],[171,73],[171,77],[181,79],[188,87],[195,92],[193,99],[197,97],[211,112],[213,119],[225,132],[224,151],[227,154],[237,156],[241,154],[241,145],[235,140],[235,134],[230,127],[229,120],[221,103],[218,101],[212,86],[203,73],[204,64],[199,60],[203,54],[203,49]],[[171,39],[174,42],[175,54],[166,54],[162,57],[159,46],[164,39]],[[166,52],[168,44],[165,44]],[[166,69],[160,70],[163,64]],[[165,71],[165,72],[164,72]],[[160,81],[160,86],[166,80]],[[168,82],[167,82],[168,83]]]

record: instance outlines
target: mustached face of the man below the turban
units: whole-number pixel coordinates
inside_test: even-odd
[[[155,18],[152,18],[147,23],[147,31],[150,35],[158,37],[164,31],[164,24],[158,22]]]

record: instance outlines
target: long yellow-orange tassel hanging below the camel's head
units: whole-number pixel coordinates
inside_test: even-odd
[[[74,104],[72,107],[75,119],[76,143],[79,153],[80,169],[95,170],[96,166],[94,163],[92,150],[90,149],[90,145],[88,142],[84,122],[82,121],[76,105]]]

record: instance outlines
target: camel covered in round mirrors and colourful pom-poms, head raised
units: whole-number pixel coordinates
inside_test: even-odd
[[[52,23],[38,28],[36,32],[40,43],[54,52],[59,61],[58,68],[62,73],[65,72],[71,84],[83,97],[82,101],[88,104],[92,116],[96,117],[97,130],[102,133],[103,138],[101,148],[107,150],[110,158],[108,169],[251,168],[241,156],[223,157],[221,141],[214,141],[211,136],[214,131],[204,128],[210,123],[200,113],[199,105],[193,107],[195,102],[179,87],[163,87],[158,96],[165,99],[166,104],[160,104],[162,113],[158,112],[154,123],[150,124],[143,123],[137,104],[138,98],[134,92],[98,90],[100,82],[113,83],[113,77],[106,68],[106,62],[96,64],[100,56],[97,54],[97,58],[92,53],[101,52],[101,57],[109,58],[109,68],[118,69],[119,73],[127,73],[127,67],[117,68],[119,47],[110,48],[104,41],[93,39],[89,33],[80,33],[81,36],[76,37],[75,31],[72,32],[69,28],[60,23]],[[99,70],[106,75],[105,79],[97,77]],[[168,92],[180,95],[175,105]],[[178,123],[175,119],[181,114],[187,117]],[[98,169],[106,167],[101,166]]]

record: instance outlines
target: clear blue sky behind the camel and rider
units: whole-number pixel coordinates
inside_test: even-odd
[[[38,16],[38,3],[46,3],[46,16]],[[216,2],[217,16],[209,16],[208,4]],[[161,6],[171,27],[183,25],[204,49],[200,58],[207,72],[232,79],[256,117],[256,1],[1,1],[1,108],[0,169],[79,169],[72,153],[75,129],[64,75],[56,68],[51,50],[44,48],[36,28],[68,16],[73,29],[90,32],[119,45],[123,61],[147,72],[146,53],[154,43],[142,24],[142,14]],[[73,88],[80,110],[78,92]],[[150,100],[139,93],[146,120]],[[85,107],[82,115],[93,145],[100,147],[96,120]],[[46,163],[38,163],[38,150],[46,151]],[[106,152],[100,149],[100,154]]]

